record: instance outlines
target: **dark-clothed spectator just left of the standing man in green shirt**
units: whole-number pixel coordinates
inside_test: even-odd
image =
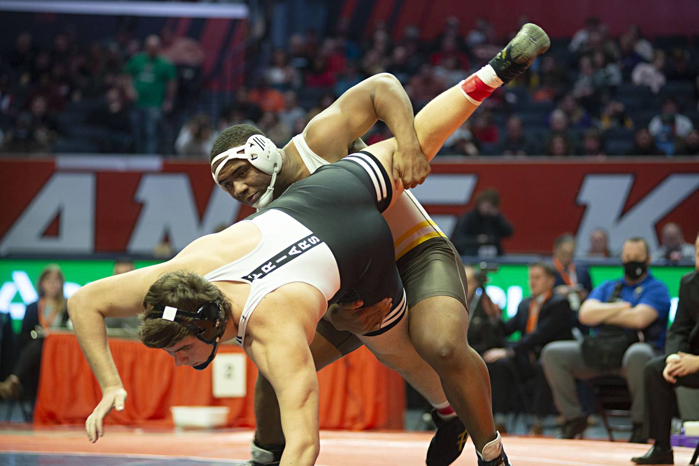
[[[89,113],[89,122],[108,129],[100,138],[101,152],[131,152],[131,115],[120,89],[112,87],[107,91],[104,103]]]

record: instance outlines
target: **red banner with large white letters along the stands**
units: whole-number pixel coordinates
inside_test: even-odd
[[[612,250],[630,236],[654,249],[669,221],[688,242],[699,231],[697,159],[436,162],[413,192],[450,234],[487,187],[514,225],[505,252],[548,253],[565,232],[584,251],[595,228]],[[178,250],[253,212],[215,187],[206,162],[157,157],[2,159],[0,193],[0,256],[150,254],[164,240]]]

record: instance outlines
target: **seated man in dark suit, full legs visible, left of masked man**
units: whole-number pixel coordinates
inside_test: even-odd
[[[483,354],[490,374],[496,429],[500,433],[507,431],[504,416],[514,409],[513,401],[518,399],[527,379],[536,379],[533,411],[537,421],[533,433],[541,433],[542,419],[551,409],[551,390],[538,363],[539,356],[549,342],[572,340],[572,312],[565,296],[553,292],[555,275],[555,270],[546,263],[529,265],[531,296],[519,303],[512,319],[501,322],[505,335],[519,331],[521,340],[512,347],[492,348]]]

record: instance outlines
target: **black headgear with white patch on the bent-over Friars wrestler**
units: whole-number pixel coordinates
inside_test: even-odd
[[[156,311],[162,311],[161,319],[178,323],[194,333],[194,336],[206,344],[212,344],[211,354],[208,359],[199,365],[194,365],[196,370],[204,370],[216,356],[218,344],[226,331],[226,313],[221,305],[215,301],[203,303],[196,312],[187,312],[172,306],[155,306]],[[189,317],[194,321],[184,319]]]

